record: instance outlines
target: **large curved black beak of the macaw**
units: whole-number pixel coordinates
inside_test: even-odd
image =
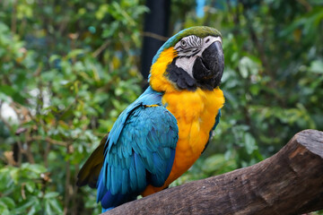
[[[224,69],[223,48],[219,41],[206,47],[193,65],[193,76],[200,87],[213,90],[220,85]]]

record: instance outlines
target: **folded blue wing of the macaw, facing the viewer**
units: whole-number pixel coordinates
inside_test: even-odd
[[[146,90],[109,133],[97,185],[102,207],[128,202],[147,185],[162,186],[170,175],[178,139],[177,120],[162,107],[161,94]]]

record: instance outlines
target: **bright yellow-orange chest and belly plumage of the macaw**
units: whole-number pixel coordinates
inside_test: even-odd
[[[186,172],[205,149],[224,97],[220,89],[183,90],[165,93],[162,103],[176,117],[179,126],[175,160],[165,183],[170,184]]]

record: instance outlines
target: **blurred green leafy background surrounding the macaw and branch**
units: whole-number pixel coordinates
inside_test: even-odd
[[[100,213],[96,191],[75,176],[142,92],[148,12],[144,0],[0,1],[0,214]],[[212,142],[172,185],[323,130],[322,1],[172,0],[169,18],[169,36],[222,31],[226,98]]]

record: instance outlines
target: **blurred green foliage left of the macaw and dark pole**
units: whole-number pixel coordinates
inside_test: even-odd
[[[95,191],[78,189],[75,176],[141,92],[147,10],[138,1],[0,4],[0,213],[99,214]]]

